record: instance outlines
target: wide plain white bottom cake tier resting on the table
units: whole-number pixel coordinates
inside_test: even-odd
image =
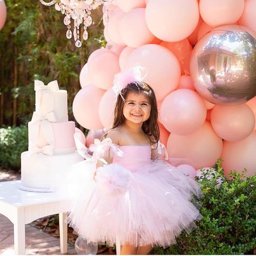
[[[58,177],[68,175],[73,164],[84,160],[77,152],[65,155],[31,155],[28,151],[21,154],[21,182],[27,188],[54,190]],[[38,191],[38,190],[37,190]]]

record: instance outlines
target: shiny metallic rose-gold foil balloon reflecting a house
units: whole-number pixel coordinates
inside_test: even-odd
[[[193,49],[194,86],[208,102],[237,105],[256,95],[256,33],[244,26],[220,26]]]

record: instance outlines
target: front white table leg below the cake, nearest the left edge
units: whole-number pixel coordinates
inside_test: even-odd
[[[14,220],[14,253],[25,254],[25,211],[17,208]]]

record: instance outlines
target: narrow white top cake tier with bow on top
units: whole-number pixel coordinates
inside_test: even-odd
[[[32,120],[68,121],[68,94],[65,90],[59,90],[57,80],[48,85],[35,80],[35,91],[36,111]]]

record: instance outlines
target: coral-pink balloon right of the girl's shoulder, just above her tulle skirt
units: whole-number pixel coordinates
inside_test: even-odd
[[[167,151],[171,159],[178,158],[179,164],[190,164],[195,169],[213,166],[220,157],[222,147],[222,139],[207,121],[190,135],[180,136],[171,133],[167,142]]]

